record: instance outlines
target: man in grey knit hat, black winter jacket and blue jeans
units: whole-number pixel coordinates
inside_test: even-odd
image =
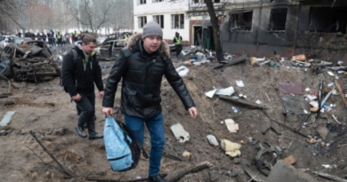
[[[182,77],[173,67],[168,46],[162,37],[163,30],[157,22],[150,21],[143,27],[142,34],[130,38],[128,50],[121,51],[110,71],[102,100],[102,112],[105,115],[113,113],[117,83],[122,78],[121,111],[125,115],[127,127],[141,145],[144,124],[150,133],[149,181],[166,182],[165,178],[158,175],[165,146],[160,98],[163,75],[193,119],[197,117],[198,111]]]

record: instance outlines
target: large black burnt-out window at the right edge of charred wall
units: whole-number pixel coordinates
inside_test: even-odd
[[[311,7],[309,31],[346,34],[347,7]]]

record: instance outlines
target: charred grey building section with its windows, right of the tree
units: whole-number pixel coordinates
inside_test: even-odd
[[[343,59],[347,51],[347,1],[233,0],[221,26],[223,51],[270,56],[305,53]]]

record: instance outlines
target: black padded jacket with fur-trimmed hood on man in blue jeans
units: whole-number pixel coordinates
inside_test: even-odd
[[[184,107],[195,107],[182,77],[173,67],[172,60],[161,51],[157,51],[151,58],[145,57],[141,44],[140,39],[133,45],[132,53],[128,57],[121,51],[110,71],[102,106],[113,107],[117,83],[122,78],[122,113],[145,119],[153,117],[162,111],[160,86],[165,75]]]

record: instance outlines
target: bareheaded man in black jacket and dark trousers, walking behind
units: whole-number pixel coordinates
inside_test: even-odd
[[[82,37],[82,44],[77,44],[73,50],[64,56],[62,62],[62,83],[77,104],[79,114],[76,131],[82,138],[87,137],[85,125],[88,128],[89,139],[103,138],[95,131],[95,93],[94,83],[103,97],[101,67],[94,51],[96,39],[93,36]],[[75,52],[74,52],[75,51]]]

